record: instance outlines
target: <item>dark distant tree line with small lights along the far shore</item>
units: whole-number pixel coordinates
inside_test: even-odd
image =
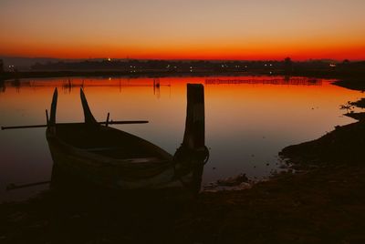
[[[364,69],[364,62],[334,62],[309,60],[294,62],[290,57],[281,61],[208,61],[208,60],[138,60],[105,59],[78,62],[47,62],[32,66],[34,71],[120,71],[141,72],[261,72],[267,74],[295,74],[300,72],[331,72],[333,70]]]

